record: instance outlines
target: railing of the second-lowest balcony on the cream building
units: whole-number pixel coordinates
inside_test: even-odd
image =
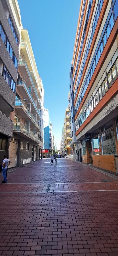
[[[37,128],[41,129],[41,125],[37,122],[31,111],[29,110],[28,106],[25,104],[23,100],[15,100],[15,107],[22,107],[22,109],[26,112],[26,114],[30,117],[33,123],[37,126]]]

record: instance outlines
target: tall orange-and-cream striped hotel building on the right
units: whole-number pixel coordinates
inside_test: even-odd
[[[81,1],[72,65],[82,161],[118,172],[118,0]]]

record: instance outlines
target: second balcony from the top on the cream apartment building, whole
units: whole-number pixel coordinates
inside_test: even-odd
[[[37,97],[37,100],[38,100],[39,98],[41,98],[41,90],[40,90],[40,87],[38,87],[38,89],[36,90],[35,84],[34,84],[33,79],[31,77],[31,72],[29,71],[29,68],[28,68],[26,60],[25,59],[19,59],[18,60],[18,65],[19,65],[18,67],[19,67],[19,69],[20,69],[20,71],[22,73],[22,76],[23,77],[27,77],[26,80],[31,82],[31,85],[33,87],[35,96]],[[38,96],[38,93],[39,93],[39,96]],[[40,102],[40,104],[41,104],[41,102]]]

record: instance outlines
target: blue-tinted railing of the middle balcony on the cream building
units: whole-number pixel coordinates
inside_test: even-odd
[[[27,94],[28,94],[28,96],[29,96],[29,98],[30,98],[30,100],[31,100],[31,103],[33,104],[33,106],[34,106],[36,112],[38,113],[38,115],[39,115],[40,118],[41,118],[41,114],[39,113],[39,110],[37,109],[37,106],[36,106],[36,104],[35,104],[35,102],[34,102],[33,96],[31,95],[31,92],[30,92],[30,90],[29,90],[29,88],[28,88],[28,86],[27,86],[27,84],[26,84],[25,79],[24,79],[24,78],[18,78],[18,79],[17,79],[17,84],[18,84],[18,85],[22,85],[22,86],[24,87],[25,91],[27,92]]]

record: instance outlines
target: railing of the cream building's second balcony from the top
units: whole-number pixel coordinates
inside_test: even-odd
[[[25,60],[25,59],[19,59],[19,60],[18,60],[18,65],[24,65],[24,66],[26,67],[26,70],[27,70],[27,72],[28,72],[29,79],[30,79],[30,81],[31,81],[31,84],[32,84],[32,86],[33,86],[33,89],[34,89],[34,92],[35,92],[35,94],[36,94],[37,100],[38,100],[39,105],[40,105],[40,107],[41,107],[41,102],[40,102],[40,100],[39,100],[39,96],[38,96],[38,94],[37,94],[37,91],[36,91],[36,88],[35,88],[33,79],[32,79],[32,77],[31,77],[31,74],[30,74],[30,71],[29,71],[29,68],[28,68],[28,65],[27,65],[26,60]],[[40,90],[40,95],[41,95],[41,90]]]

